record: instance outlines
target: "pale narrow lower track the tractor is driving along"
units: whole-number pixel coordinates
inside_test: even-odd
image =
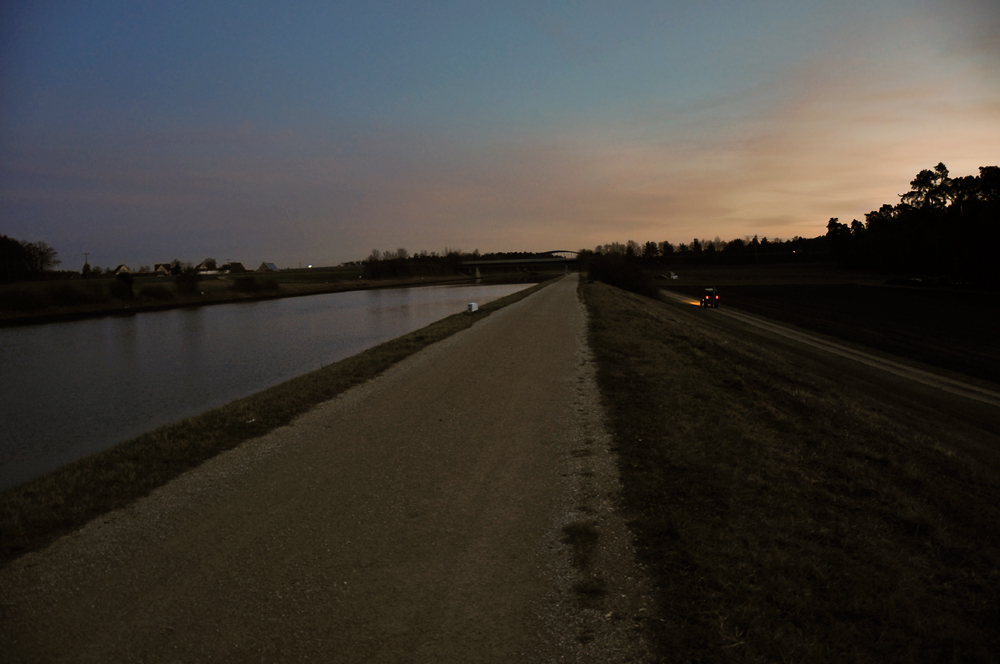
[[[698,304],[697,300],[694,300],[686,295],[680,295],[666,290],[661,290],[660,292],[679,302],[692,305]],[[1000,406],[1000,393],[984,388],[980,385],[975,385],[968,381],[957,380],[937,373],[932,373],[930,371],[925,371],[923,369],[918,369],[909,364],[876,355],[871,352],[859,350],[857,348],[852,348],[846,344],[830,341],[829,339],[825,339],[817,334],[811,334],[803,331],[800,328],[793,328],[788,325],[775,323],[765,318],[761,318],[760,316],[748,314],[744,311],[735,311],[731,308],[712,309],[711,311],[712,313],[718,313],[722,316],[738,321],[742,325],[749,325],[766,330],[786,339],[806,344],[807,346],[824,353],[837,355],[841,358],[864,364],[868,367],[885,371],[901,378],[906,378],[942,392],[947,392],[955,396],[971,399],[973,401],[989,404],[991,406]]]

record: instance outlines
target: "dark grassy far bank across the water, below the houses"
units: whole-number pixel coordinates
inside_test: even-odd
[[[463,275],[361,279],[359,268],[315,268],[280,272],[185,277],[137,276],[131,290],[114,277],[0,285],[0,325],[24,325],[91,316],[132,314],[179,307],[471,281]],[[510,275],[498,281],[509,282]],[[541,280],[544,276],[537,276]],[[504,281],[507,280],[507,281]]]

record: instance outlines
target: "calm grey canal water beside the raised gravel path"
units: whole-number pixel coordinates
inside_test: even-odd
[[[0,329],[0,488],[529,285],[356,291]]]

